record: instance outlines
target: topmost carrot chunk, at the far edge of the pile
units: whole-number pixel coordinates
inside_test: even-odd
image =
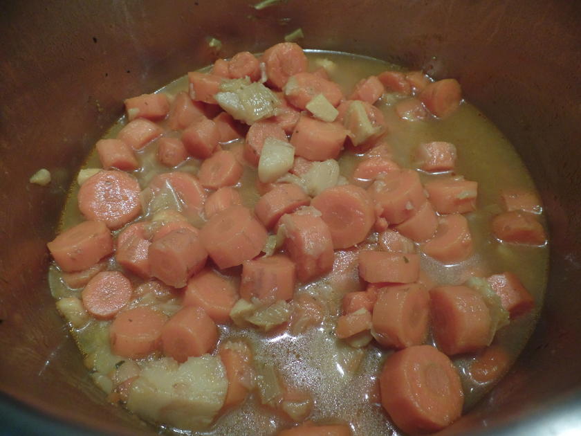
[[[304,51],[294,42],[282,42],[268,48],[262,55],[266,67],[268,84],[282,89],[291,75],[308,69],[308,60]]]

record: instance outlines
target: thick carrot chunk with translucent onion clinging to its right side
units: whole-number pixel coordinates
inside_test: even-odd
[[[430,316],[436,343],[449,356],[474,352],[490,343],[490,311],[481,294],[472,288],[431,289]]]

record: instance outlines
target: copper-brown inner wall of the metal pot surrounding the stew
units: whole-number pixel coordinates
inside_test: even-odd
[[[307,48],[458,78],[542,193],[552,260],[540,324],[510,374],[441,434],[581,434],[581,3],[291,0],[261,11],[250,3],[0,3],[2,420],[23,426],[21,434],[62,434],[62,421],[74,423],[71,434],[155,433],[105,403],[90,381],[48,293],[44,244],[77,167],[120,116],[123,98],[211,62],[207,36],[221,39],[228,56],[261,51],[302,27]],[[39,167],[53,174],[48,188],[28,183]],[[29,432],[27,416],[53,424]]]

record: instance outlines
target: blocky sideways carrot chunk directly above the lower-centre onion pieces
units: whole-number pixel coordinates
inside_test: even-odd
[[[295,262],[285,255],[259,257],[247,260],[242,266],[240,296],[264,302],[291,300],[295,293]]]

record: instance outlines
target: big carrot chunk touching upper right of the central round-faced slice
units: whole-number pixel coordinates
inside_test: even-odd
[[[383,174],[369,188],[376,203],[378,217],[389,224],[400,224],[419,210],[426,198],[420,176],[414,170],[398,170]]]

